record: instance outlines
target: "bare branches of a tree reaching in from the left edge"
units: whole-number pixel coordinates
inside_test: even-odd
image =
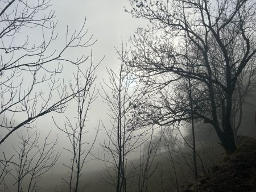
[[[63,112],[77,92],[69,93],[59,74],[63,65],[77,65],[88,57],[65,57],[68,49],[88,47],[95,41],[86,38],[88,30],[67,34],[65,45],[56,50],[56,19],[50,0],[1,2],[0,8],[0,98],[1,140],[3,143],[18,128],[34,127],[40,116]],[[36,35],[35,35],[36,34]],[[44,87],[44,89],[42,89]],[[16,117],[22,117],[19,122]]]

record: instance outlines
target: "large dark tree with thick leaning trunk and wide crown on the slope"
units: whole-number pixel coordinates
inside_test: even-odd
[[[135,17],[152,24],[134,35],[130,66],[154,90],[184,78],[197,82],[194,88],[201,94],[193,102],[193,115],[212,124],[226,153],[232,154],[236,150],[230,121],[233,94],[238,77],[256,53],[256,3],[130,0],[130,4]],[[174,98],[169,94],[170,100]],[[175,99],[169,104],[169,118],[155,123],[190,118],[189,108],[177,107]]]

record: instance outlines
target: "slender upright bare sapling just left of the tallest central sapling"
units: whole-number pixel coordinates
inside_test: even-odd
[[[86,121],[88,120],[88,112],[92,103],[97,98],[98,93],[94,83],[97,77],[95,70],[100,62],[97,65],[94,65],[93,55],[91,54],[91,63],[85,71],[83,71],[79,65],[77,66],[77,74],[74,74],[76,80],[75,87],[70,84],[71,89],[74,91],[73,93],[76,95],[75,101],[77,103],[77,122],[73,124],[72,120],[67,118],[66,122],[64,123],[64,128],[61,128],[57,126],[56,121],[52,118],[57,128],[67,134],[72,146],[71,149],[64,148],[72,155],[71,164],[65,165],[69,169],[69,178],[68,180],[62,178],[64,183],[67,183],[69,186],[69,191],[79,191],[81,171],[82,168],[84,168],[84,164],[88,162],[88,156],[93,149],[93,145],[99,131],[99,127],[96,128],[96,135],[91,143],[88,141],[89,137],[85,138],[86,133],[89,131],[89,128],[86,125]]]

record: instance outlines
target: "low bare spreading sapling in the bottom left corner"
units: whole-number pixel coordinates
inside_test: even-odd
[[[47,134],[46,139],[41,144],[39,137],[40,132],[37,130],[33,133],[20,133],[19,145],[14,147],[16,155],[11,156],[11,158],[6,158],[0,160],[1,164],[4,165],[2,172],[5,175],[1,175],[1,180],[3,181],[7,176],[13,176],[17,191],[23,191],[23,181],[26,178],[27,185],[26,191],[38,191],[41,189],[38,182],[42,179],[44,173],[48,172],[60,157],[60,153],[55,151],[55,146],[57,144],[57,139],[55,141],[49,141],[49,135]],[[9,164],[9,168],[7,168]],[[6,185],[7,186],[7,185]]]

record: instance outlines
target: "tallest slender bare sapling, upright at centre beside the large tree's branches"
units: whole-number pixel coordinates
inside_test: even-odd
[[[122,43],[122,51],[117,51],[121,67],[118,73],[113,69],[107,69],[109,82],[105,81],[104,101],[109,107],[110,127],[105,126],[106,139],[102,143],[106,175],[105,180],[115,186],[115,191],[127,191],[127,180],[130,178],[126,165],[129,162],[129,155],[143,143],[147,130],[135,132],[136,117],[131,116],[131,110],[138,105],[141,94],[137,93],[138,84],[133,81],[132,75],[127,71],[125,60],[129,50]]]

